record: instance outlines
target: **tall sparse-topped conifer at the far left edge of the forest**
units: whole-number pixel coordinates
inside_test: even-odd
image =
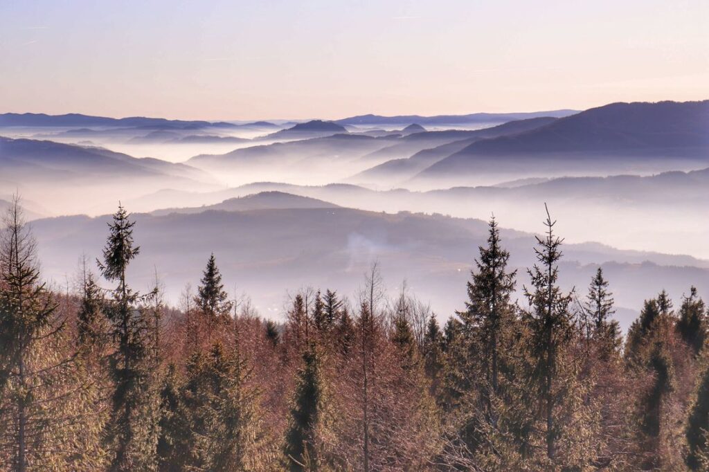
[[[38,384],[51,381],[56,366],[38,365],[39,341],[53,326],[57,303],[40,281],[36,243],[25,224],[19,199],[4,215],[0,234],[0,466],[18,472],[39,466],[43,434],[52,427]],[[46,342],[46,344],[50,344]],[[45,370],[48,369],[48,370]],[[8,415],[9,414],[9,415]],[[3,418],[4,417],[4,418]],[[53,425],[56,426],[56,425]],[[7,454],[7,449],[11,453]]]

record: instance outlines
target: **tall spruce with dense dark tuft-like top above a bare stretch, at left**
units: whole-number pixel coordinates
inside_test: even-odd
[[[150,324],[138,306],[142,298],[126,279],[128,264],[140,252],[134,247],[133,227],[123,206],[108,223],[101,274],[116,281],[113,298],[106,303],[111,334],[117,349],[110,356],[114,390],[111,395],[111,422],[107,434],[113,448],[112,471],[150,471],[157,467],[157,398],[150,390]]]

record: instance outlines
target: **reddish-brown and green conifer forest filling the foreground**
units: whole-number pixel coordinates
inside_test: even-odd
[[[0,468],[10,471],[705,471],[707,307],[648,293],[624,335],[598,269],[565,292],[547,212],[526,274],[498,222],[445,322],[410,293],[301,289],[280,320],[225,291],[140,292],[119,207],[78,290],[45,285],[15,201],[0,239]],[[284,288],[285,289],[285,288]]]

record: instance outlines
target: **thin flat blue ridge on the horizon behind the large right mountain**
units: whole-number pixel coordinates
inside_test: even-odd
[[[506,123],[513,120],[525,120],[527,118],[537,118],[540,116],[553,116],[562,118],[564,116],[579,113],[577,110],[552,110],[533,111],[523,113],[471,113],[469,115],[359,115],[350,118],[335,120],[340,125],[401,125],[406,123],[418,123],[419,125],[471,125],[479,123]]]

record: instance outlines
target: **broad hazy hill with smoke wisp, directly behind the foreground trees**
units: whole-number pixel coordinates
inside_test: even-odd
[[[64,281],[81,254],[89,259],[99,255],[109,218],[71,216],[33,222],[44,273]],[[430,300],[434,310],[447,317],[466,300],[472,259],[486,238],[486,223],[481,220],[350,208],[204,210],[137,214],[135,220],[141,253],[130,267],[133,286],[149,287],[157,267],[169,297],[177,300],[180,288],[199,279],[199,268],[214,252],[225,282],[250,294],[264,313],[280,313],[286,291],[306,284],[356,293],[364,271],[379,260],[389,290],[395,291],[407,279],[420,298]],[[502,235],[513,267],[533,264],[532,235],[513,230],[503,230]],[[564,245],[563,286],[582,290],[598,264],[621,308],[637,310],[644,298],[662,288],[673,297],[691,284],[700,293],[709,291],[706,262],[597,244]],[[520,270],[518,288],[527,282],[524,274]],[[630,319],[621,322],[627,327]]]

